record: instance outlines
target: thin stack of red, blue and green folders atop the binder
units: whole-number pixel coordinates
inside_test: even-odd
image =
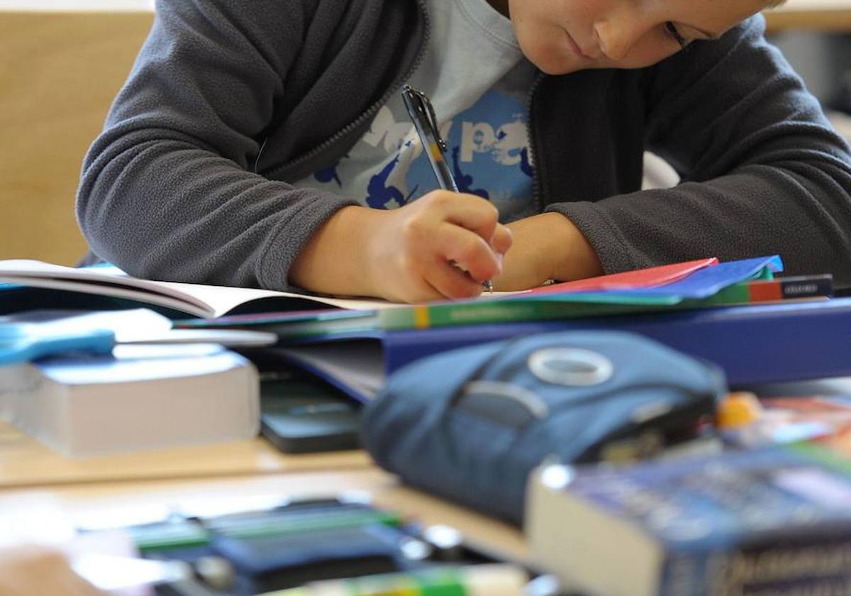
[[[776,257],[717,263],[691,261],[461,301],[366,310],[262,312],[179,322],[186,328],[258,328],[284,340],[346,335],[369,330],[423,330],[472,324],[505,324],[671,312],[755,304],[832,293],[830,275],[774,278]]]

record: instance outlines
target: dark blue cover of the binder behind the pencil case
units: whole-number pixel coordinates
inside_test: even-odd
[[[851,298],[584,320],[389,331],[386,371],[432,353],[556,330],[624,330],[719,364],[732,385],[851,375]],[[641,358],[641,354],[636,354]]]

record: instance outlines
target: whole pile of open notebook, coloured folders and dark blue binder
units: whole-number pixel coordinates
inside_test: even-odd
[[[0,281],[10,284],[0,289],[0,312],[57,302],[90,308],[142,303],[179,319],[176,326],[184,329],[271,331],[279,337],[278,357],[358,399],[372,398],[387,374],[431,353],[565,329],[635,331],[722,365],[734,383],[851,373],[838,356],[843,350],[831,348],[844,346],[842,329],[851,318],[851,305],[824,300],[831,276],[776,278],[780,272],[777,256],[710,258],[408,306],[153,282],[114,267],[0,261]]]

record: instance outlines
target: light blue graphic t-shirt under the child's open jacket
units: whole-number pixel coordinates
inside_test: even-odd
[[[487,0],[430,0],[432,35],[408,83],[431,97],[447,161],[461,192],[487,198],[501,221],[534,213],[528,150],[528,91],[534,66],[511,22]],[[295,186],[395,209],[438,188],[420,139],[397,95],[334,167]]]

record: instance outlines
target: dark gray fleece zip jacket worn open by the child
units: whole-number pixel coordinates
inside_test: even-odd
[[[606,272],[782,255],[851,284],[851,154],[755,17],[640,70],[540,75],[540,210]],[[357,204],[294,189],[364,134],[419,64],[422,0],[168,0],[83,164],[96,255],[146,278],[288,289],[311,234]],[[683,178],[639,192],[645,149]]]

